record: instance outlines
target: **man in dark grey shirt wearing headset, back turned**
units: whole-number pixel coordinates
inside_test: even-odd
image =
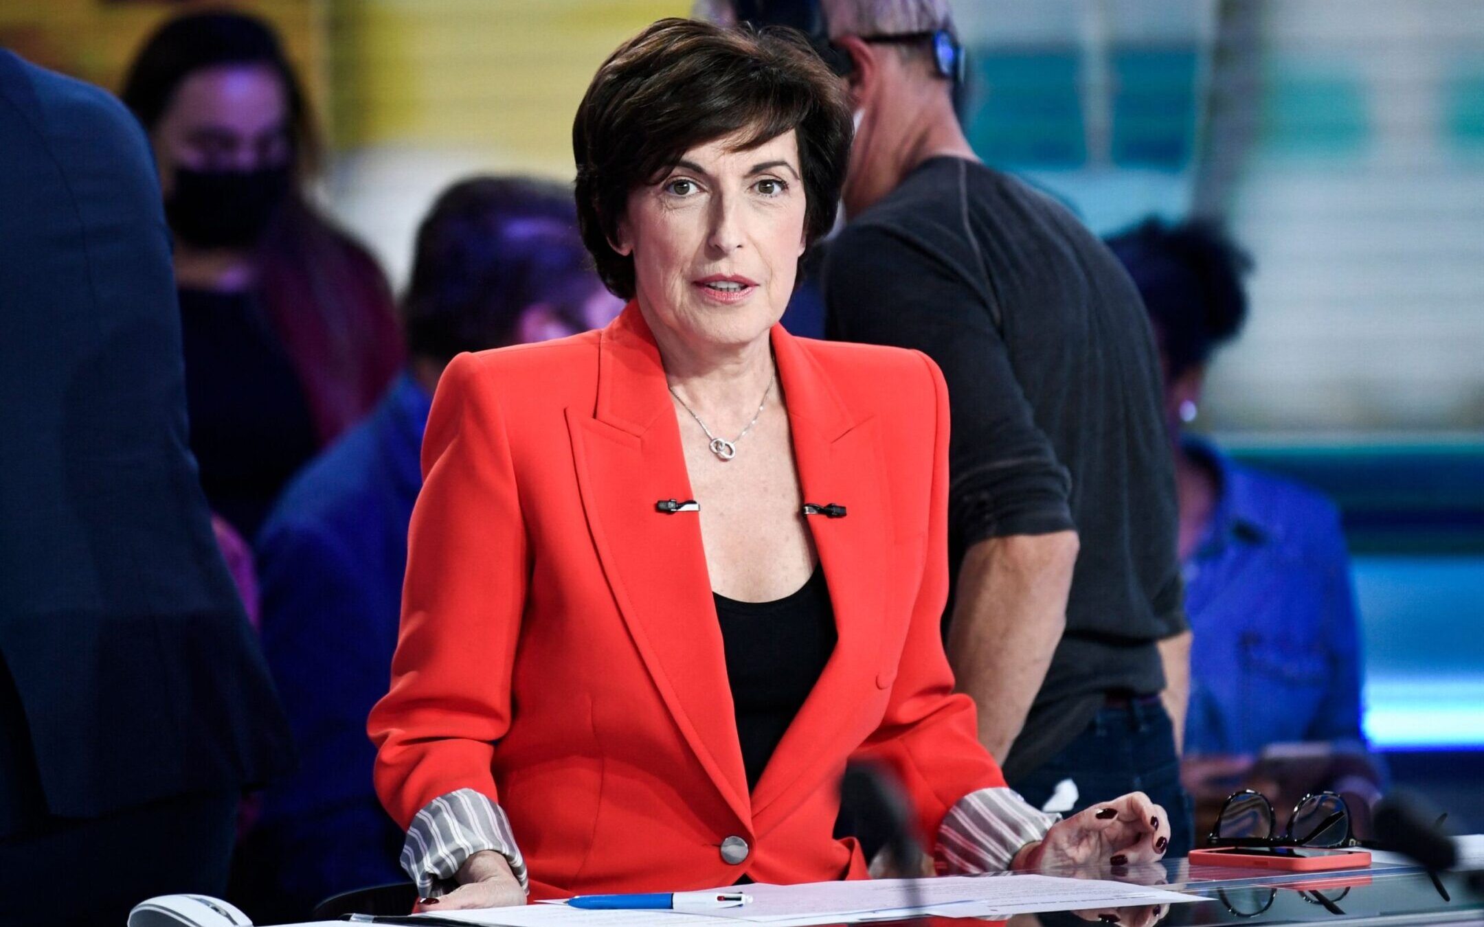
[[[735,0],[735,12],[812,28],[850,85],[849,224],[824,258],[827,332],[919,349],[948,380],[947,639],[981,740],[1051,811],[1149,794],[1169,811],[1169,854],[1186,853],[1175,731],[1189,626],[1138,292],[1067,209],[969,147],[947,0]]]

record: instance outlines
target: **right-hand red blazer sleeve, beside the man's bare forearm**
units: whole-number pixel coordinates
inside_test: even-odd
[[[960,798],[1003,786],[993,756],[979,745],[974,702],[953,691],[942,650],[942,608],[948,596],[948,387],[938,366],[919,353],[932,384],[935,438],[928,504],[928,553],[922,586],[892,684],[886,716],[862,745],[859,759],[890,767],[907,788],[928,845]]]

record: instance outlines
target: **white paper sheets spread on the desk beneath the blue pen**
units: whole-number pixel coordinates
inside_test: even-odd
[[[488,911],[444,911],[454,918],[482,927],[699,927],[709,924],[769,924],[770,927],[809,927],[907,918],[913,915],[997,917],[1040,911],[1083,911],[1138,905],[1177,905],[1201,902],[1159,887],[1129,885],[1114,881],[1058,878],[1051,875],[1014,875],[988,878],[916,880],[917,893],[907,894],[907,880],[852,883],[815,883],[807,885],[748,885],[752,902],[742,908],[723,908],[705,914],[674,911],[580,911],[565,905],[528,905]],[[727,890],[736,890],[729,887]],[[913,908],[907,905],[911,903]]]

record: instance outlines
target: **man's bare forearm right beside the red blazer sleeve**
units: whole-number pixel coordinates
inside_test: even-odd
[[[1076,531],[996,537],[959,568],[948,662],[979,709],[979,740],[1005,761],[1067,626]]]

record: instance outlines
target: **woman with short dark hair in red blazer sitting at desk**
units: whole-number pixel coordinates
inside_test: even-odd
[[[370,719],[421,909],[864,878],[833,835],[856,759],[942,871],[1162,854],[1143,795],[1055,825],[1021,802],[953,694],[938,369],[778,325],[849,145],[788,33],[665,19],[594,77],[577,209],[631,303],[460,354],[427,426]]]

